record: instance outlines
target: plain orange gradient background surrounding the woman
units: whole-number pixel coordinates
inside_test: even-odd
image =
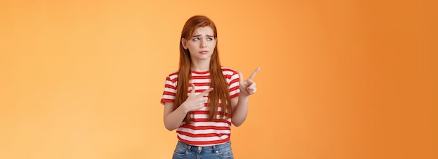
[[[171,158],[185,20],[257,93],[235,158],[438,158],[432,1],[0,2],[0,158]]]

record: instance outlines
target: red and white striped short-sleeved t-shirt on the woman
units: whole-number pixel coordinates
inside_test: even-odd
[[[188,96],[192,91],[192,83],[195,84],[195,93],[200,94],[210,88],[210,71],[197,72],[191,71],[192,77],[189,81]],[[235,98],[239,96],[239,74],[231,69],[222,67],[222,73],[227,81],[229,89],[229,97]],[[164,93],[161,103],[173,103],[176,95],[176,84],[178,82],[178,73],[171,73],[166,78]],[[214,91],[214,90],[213,90]],[[209,95],[206,94],[206,97]],[[181,121],[181,126],[176,129],[178,139],[186,144],[195,146],[211,146],[222,144],[229,141],[231,135],[231,119],[220,119],[220,105],[218,106],[217,119],[209,121],[209,110],[206,107],[189,112],[192,123],[185,124]]]

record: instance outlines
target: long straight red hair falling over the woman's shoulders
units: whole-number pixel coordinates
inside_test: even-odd
[[[189,50],[184,49],[182,39],[192,37],[193,31],[199,27],[211,27],[214,32],[214,38],[218,38],[216,25],[209,19],[209,17],[195,15],[185,22],[181,33],[181,41],[179,43],[180,61],[178,68],[178,85],[176,86],[175,109],[187,100],[188,87],[190,86],[189,80],[191,77],[190,66],[192,61],[190,60],[190,52]],[[224,119],[224,117],[225,119],[229,119],[232,116],[228,84],[222,74],[221,67],[218,54],[218,43],[216,42],[216,47],[214,48],[210,59],[210,87],[213,88],[213,91],[209,92],[209,102],[207,103],[207,106],[209,107],[209,121],[217,119],[216,114],[218,114],[219,101],[221,101],[220,107],[222,108],[220,119]],[[189,113],[185,115],[184,122],[190,123]]]

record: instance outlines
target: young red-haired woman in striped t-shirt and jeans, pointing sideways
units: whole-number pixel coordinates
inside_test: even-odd
[[[248,114],[248,97],[257,88],[253,78],[222,67],[215,24],[193,16],[181,33],[179,70],[166,78],[161,103],[164,126],[175,130],[173,158],[233,158],[231,124],[241,126]]]

